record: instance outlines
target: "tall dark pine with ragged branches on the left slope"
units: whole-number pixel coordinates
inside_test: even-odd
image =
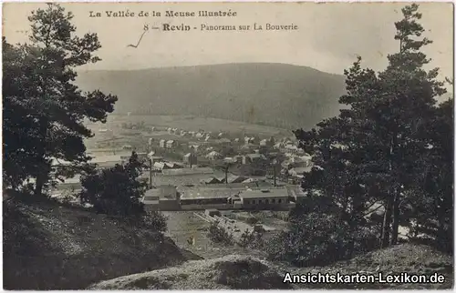
[[[106,122],[107,113],[113,111],[117,101],[116,96],[99,91],[82,93],[73,84],[77,76],[74,67],[100,60],[92,55],[100,44],[96,34],[75,35],[72,18],[56,4],[34,11],[29,17],[31,44],[18,48],[23,52],[21,65],[14,78],[6,79],[9,95],[15,96],[9,101],[19,101],[23,105],[21,111],[34,122],[32,133],[24,137],[19,147],[33,148],[27,152],[33,154],[36,195],[50,180],[53,159],[71,162],[72,166],[65,167],[67,170],[78,169],[87,162],[83,138],[92,133],[83,120]],[[9,111],[13,108],[4,107],[4,113]]]

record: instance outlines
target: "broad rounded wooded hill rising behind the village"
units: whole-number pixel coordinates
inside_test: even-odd
[[[86,71],[77,83],[118,95],[116,113],[192,115],[292,129],[337,115],[344,80],[306,66],[246,63]]]

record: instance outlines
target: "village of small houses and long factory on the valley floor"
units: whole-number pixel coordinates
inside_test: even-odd
[[[305,196],[299,182],[312,162],[293,136],[184,130],[122,121],[92,127],[95,136],[88,141],[90,163],[98,168],[114,167],[128,161],[135,151],[145,166],[140,179],[148,183],[142,198],[146,210],[164,212],[177,222],[192,217],[197,227],[185,234],[193,238],[194,231],[208,223],[223,226],[237,238],[246,230],[283,230],[286,222],[276,217],[269,217],[273,223],[269,226],[249,223],[255,213],[287,214]],[[80,188],[78,176],[67,178],[52,194],[77,203],[78,198],[72,195]]]

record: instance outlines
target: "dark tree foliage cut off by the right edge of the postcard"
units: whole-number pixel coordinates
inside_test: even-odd
[[[428,124],[430,144],[420,158],[420,170],[409,192],[408,206],[414,225],[412,235],[435,239],[439,248],[453,248],[453,99],[434,108]]]

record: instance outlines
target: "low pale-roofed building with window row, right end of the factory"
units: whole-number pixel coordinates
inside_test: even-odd
[[[286,188],[272,188],[262,190],[247,189],[239,194],[243,207],[288,207],[290,198]]]

